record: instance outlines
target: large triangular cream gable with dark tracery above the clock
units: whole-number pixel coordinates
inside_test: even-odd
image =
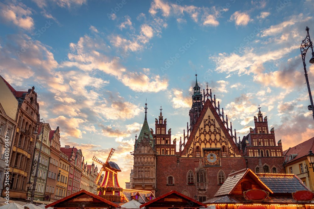
[[[217,148],[225,157],[241,156],[230,133],[213,107],[212,102],[207,99],[198,117],[192,133],[182,150],[184,157],[203,157],[202,148]],[[196,151],[198,150],[198,154]]]

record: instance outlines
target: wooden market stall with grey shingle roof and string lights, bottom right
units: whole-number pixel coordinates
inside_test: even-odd
[[[229,175],[212,199],[216,209],[310,209],[314,194],[294,174],[255,174],[250,169]]]

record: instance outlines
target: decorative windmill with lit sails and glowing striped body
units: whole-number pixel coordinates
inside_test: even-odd
[[[115,149],[110,150],[110,153],[108,155],[108,158],[105,163],[100,161],[95,156],[93,157],[93,160],[100,165],[102,165],[102,168],[99,171],[98,177],[95,180],[95,183],[98,184],[98,181],[100,179],[100,176],[102,175],[102,172],[104,171],[104,177],[102,178],[100,185],[97,188],[97,194],[98,195],[122,195],[122,188],[119,185],[118,180],[118,172],[121,172],[121,169],[115,162],[109,162],[113,152]]]

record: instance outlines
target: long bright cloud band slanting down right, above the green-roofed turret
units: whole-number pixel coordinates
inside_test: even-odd
[[[119,36],[116,38],[119,38]],[[70,47],[73,53],[68,54],[70,61],[65,62],[63,66],[75,66],[84,71],[95,71],[98,69],[116,77],[116,79],[133,91],[158,92],[165,90],[168,86],[168,80],[161,78],[159,75],[154,75],[147,71],[146,74],[128,71],[120,64],[120,60],[117,57],[110,58],[102,54],[102,47],[106,47],[102,39],[84,36],[80,38],[77,44],[71,43]]]

